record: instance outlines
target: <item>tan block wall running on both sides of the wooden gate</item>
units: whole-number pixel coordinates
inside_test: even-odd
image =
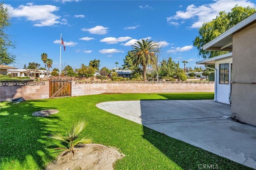
[[[212,83],[78,83],[72,81],[71,96],[95,95],[101,93],[188,93],[214,92]],[[0,86],[0,101],[23,97],[49,99],[49,81],[40,85]]]

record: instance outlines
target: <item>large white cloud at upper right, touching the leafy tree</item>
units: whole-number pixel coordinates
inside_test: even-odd
[[[236,6],[256,7],[254,3],[249,0],[214,0],[213,3],[196,6],[194,4],[189,5],[186,11],[177,11],[176,15],[167,18],[167,22],[174,26],[184,22],[184,20],[192,19],[193,23],[190,28],[200,28],[204,22],[210,22],[220,11],[230,12],[232,8]],[[178,20],[179,22],[174,22]]]

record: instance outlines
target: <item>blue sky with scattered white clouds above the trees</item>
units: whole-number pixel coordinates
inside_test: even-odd
[[[183,68],[196,65],[198,50],[193,40],[204,22],[216,18],[220,11],[238,6],[256,7],[254,0],[4,0],[11,12],[16,63],[36,62],[44,67],[41,54],[60,66],[60,34],[66,51],[61,48],[61,65],[79,68],[91,60],[100,60],[100,69],[122,67],[131,45],[141,39],[162,44],[162,57],[172,59]],[[197,65],[198,66],[198,65]]]

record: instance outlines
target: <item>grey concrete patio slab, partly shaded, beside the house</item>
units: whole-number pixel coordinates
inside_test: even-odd
[[[212,100],[142,100],[96,106],[256,169],[256,128],[227,119],[230,105]]]

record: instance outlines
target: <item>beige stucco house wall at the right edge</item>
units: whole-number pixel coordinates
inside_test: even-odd
[[[256,126],[256,22],[233,35],[232,81],[240,83],[232,83],[231,112]]]

